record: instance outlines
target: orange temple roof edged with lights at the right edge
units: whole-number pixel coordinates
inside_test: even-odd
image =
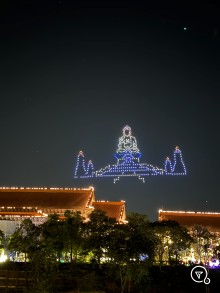
[[[182,226],[191,228],[201,225],[213,232],[220,232],[220,213],[193,211],[163,211],[158,212],[159,221],[176,221]]]

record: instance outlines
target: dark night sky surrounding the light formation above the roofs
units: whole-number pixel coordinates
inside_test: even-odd
[[[5,2],[0,186],[93,185],[97,200],[125,200],[150,220],[159,208],[220,212],[213,1]],[[125,125],[141,162],[163,167],[178,145],[187,176],[74,179],[79,150],[95,169],[116,162]]]

